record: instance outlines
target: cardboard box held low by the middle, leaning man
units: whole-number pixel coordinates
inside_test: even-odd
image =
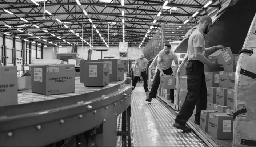
[[[160,85],[164,89],[175,89],[176,77],[175,76],[161,76]]]

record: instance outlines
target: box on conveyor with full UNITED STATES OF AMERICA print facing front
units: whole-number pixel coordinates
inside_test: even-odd
[[[31,72],[33,93],[56,95],[75,92],[74,65],[32,65]]]

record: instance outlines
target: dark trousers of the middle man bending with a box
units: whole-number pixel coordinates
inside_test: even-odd
[[[171,67],[166,70],[163,70],[163,72],[165,75],[171,75],[173,73]],[[154,79],[152,87],[151,87],[151,91],[148,96],[149,98],[156,98],[157,89],[160,84],[160,76],[159,75],[160,75],[160,71],[157,70],[155,79]],[[170,98],[171,98],[171,100],[174,100],[174,89],[170,89]]]

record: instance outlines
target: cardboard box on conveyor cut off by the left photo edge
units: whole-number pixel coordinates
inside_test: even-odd
[[[17,66],[0,66],[1,106],[18,104]]]

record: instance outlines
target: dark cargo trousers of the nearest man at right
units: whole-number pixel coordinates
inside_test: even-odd
[[[195,121],[200,121],[201,110],[206,110],[207,91],[204,64],[198,60],[189,60],[186,66],[188,93],[175,122],[185,125],[196,106]]]

